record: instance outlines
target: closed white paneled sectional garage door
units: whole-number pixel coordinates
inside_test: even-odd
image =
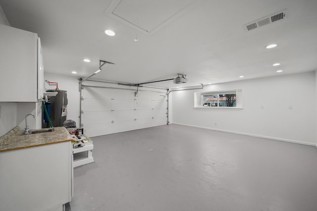
[[[82,124],[90,137],[166,125],[166,93],[84,87]]]

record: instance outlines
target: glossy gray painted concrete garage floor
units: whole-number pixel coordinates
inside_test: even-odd
[[[71,211],[317,211],[317,148],[178,125],[93,138]]]

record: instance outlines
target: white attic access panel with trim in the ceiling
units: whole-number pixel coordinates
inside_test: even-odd
[[[113,0],[106,14],[150,35],[202,0]]]

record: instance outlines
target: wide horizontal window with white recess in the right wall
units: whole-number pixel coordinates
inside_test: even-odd
[[[242,108],[242,90],[195,93],[195,108]]]

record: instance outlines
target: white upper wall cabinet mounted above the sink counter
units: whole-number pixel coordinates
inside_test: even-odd
[[[36,33],[0,24],[0,74],[0,102],[43,98],[43,57]]]

